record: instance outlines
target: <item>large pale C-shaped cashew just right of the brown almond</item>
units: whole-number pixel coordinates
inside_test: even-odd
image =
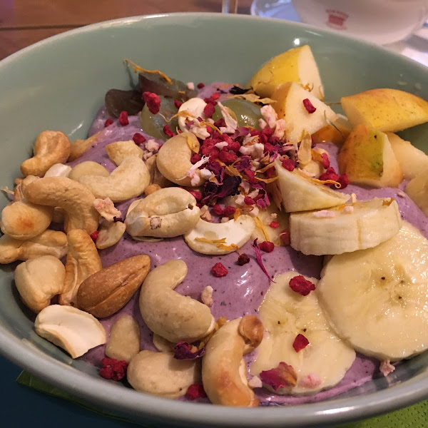
[[[183,260],[170,260],[146,277],[140,292],[140,312],[153,332],[170,342],[195,342],[215,327],[210,308],[174,291],[187,275]]]

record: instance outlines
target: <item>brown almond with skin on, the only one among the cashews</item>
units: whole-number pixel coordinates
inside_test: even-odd
[[[150,264],[148,255],[134,255],[94,273],[78,288],[77,307],[97,318],[113,315],[138,290]]]

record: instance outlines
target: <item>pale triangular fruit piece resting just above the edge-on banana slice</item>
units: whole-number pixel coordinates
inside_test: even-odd
[[[287,213],[295,211],[322,210],[345,203],[350,195],[337,192],[326,185],[315,183],[305,173],[292,172],[275,161],[282,203]]]

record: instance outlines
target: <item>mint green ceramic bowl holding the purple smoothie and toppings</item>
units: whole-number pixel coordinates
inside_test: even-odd
[[[128,88],[123,58],[183,81],[243,83],[270,57],[310,44],[327,101],[370,88],[399,88],[428,99],[428,70],[373,44],[310,26],[252,16],[172,14],[95,24],[41,41],[0,62],[0,185],[13,186],[19,165],[45,129],[83,138],[109,88]],[[425,126],[407,138],[427,151]],[[1,208],[6,205],[1,200]],[[0,351],[17,365],[88,402],[139,422],[193,427],[321,427],[370,417],[428,397],[428,355],[316,404],[241,409],[161,399],[101,379],[38,337],[14,289],[0,275]],[[157,425],[158,426],[158,425]]]

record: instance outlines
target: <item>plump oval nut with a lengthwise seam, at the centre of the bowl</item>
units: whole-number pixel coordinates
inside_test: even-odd
[[[194,228],[199,217],[193,195],[182,188],[165,188],[141,199],[125,224],[131,236],[173,238]]]

